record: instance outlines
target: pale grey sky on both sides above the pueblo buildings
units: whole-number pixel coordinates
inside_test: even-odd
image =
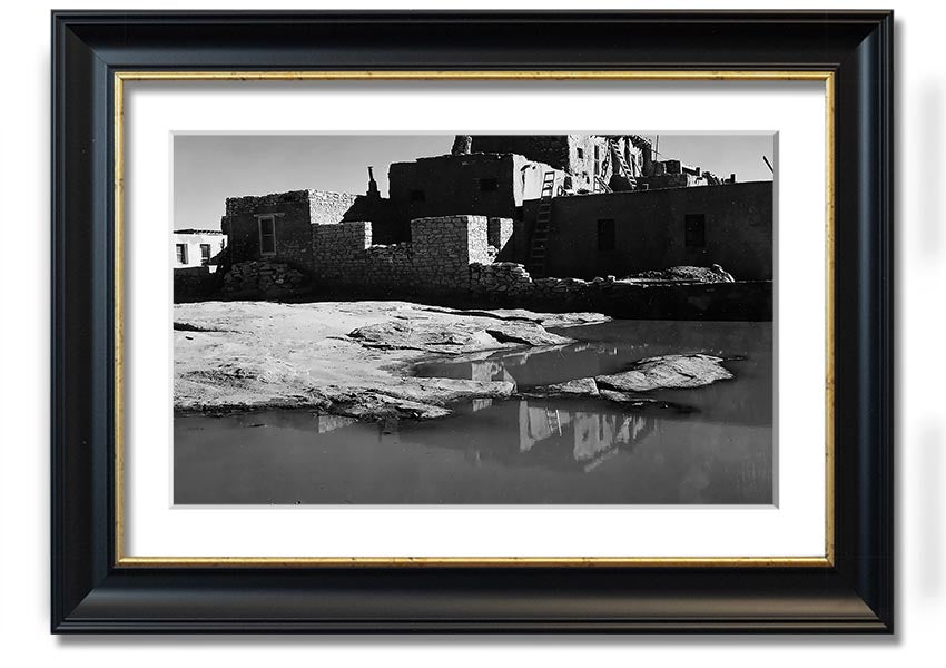
[[[638,132],[659,159],[674,158],[737,179],[771,180],[762,155],[776,164],[771,134],[696,135]],[[659,137],[659,141],[657,138]],[[174,228],[219,229],[227,197],[314,188],[367,189],[374,166],[387,195],[387,166],[450,153],[453,135],[175,135]]]

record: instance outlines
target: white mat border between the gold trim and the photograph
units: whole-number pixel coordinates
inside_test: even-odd
[[[504,112],[525,108],[545,111],[526,126]],[[808,195],[777,197],[779,265],[808,267],[778,287],[777,397],[785,419],[773,433],[786,445],[778,451],[777,507],[170,507],[171,215],[168,198],[154,194],[169,193],[171,131],[615,131],[627,109],[637,109],[634,127],[644,134],[778,129],[778,191]],[[825,497],[816,492],[825,488],[824,81],[129,81],[125,119],[126,554],[825,554]],[[165,254],[155,252],[162,246]]]

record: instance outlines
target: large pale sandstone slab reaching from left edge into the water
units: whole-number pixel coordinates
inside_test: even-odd
[[[515,387],[504,381],[413,377],[411,365],[431,353],[473,354],[570,341],[539,324],[545,314],[523,314],[522,321],[505,321],[489,312],[430,311],[407,302],[177,304],[174,406],[438,418],[450,413],[452,402],[503,399]]]

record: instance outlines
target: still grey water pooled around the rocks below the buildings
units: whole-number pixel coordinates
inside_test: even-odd
[[[613,373],[641,357],[740,357],[736,380],[653,393],[696,409],[479,400],[428,422],[305,411],[175,416],[175,502],[771,503],[771,323],[614,321],[546,350],[431,360],[423,376],[520,387]]]

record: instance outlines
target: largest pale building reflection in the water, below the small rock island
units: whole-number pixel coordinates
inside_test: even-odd
[[[628,446],[653,430],[654,420],[642,414],[568,411],[553,404],[519,403],[519,451],[529,452],[538,443],[571,445],[572,459],[597,468],[605,453]],[[570,443],[569,443],[570,442]]]

